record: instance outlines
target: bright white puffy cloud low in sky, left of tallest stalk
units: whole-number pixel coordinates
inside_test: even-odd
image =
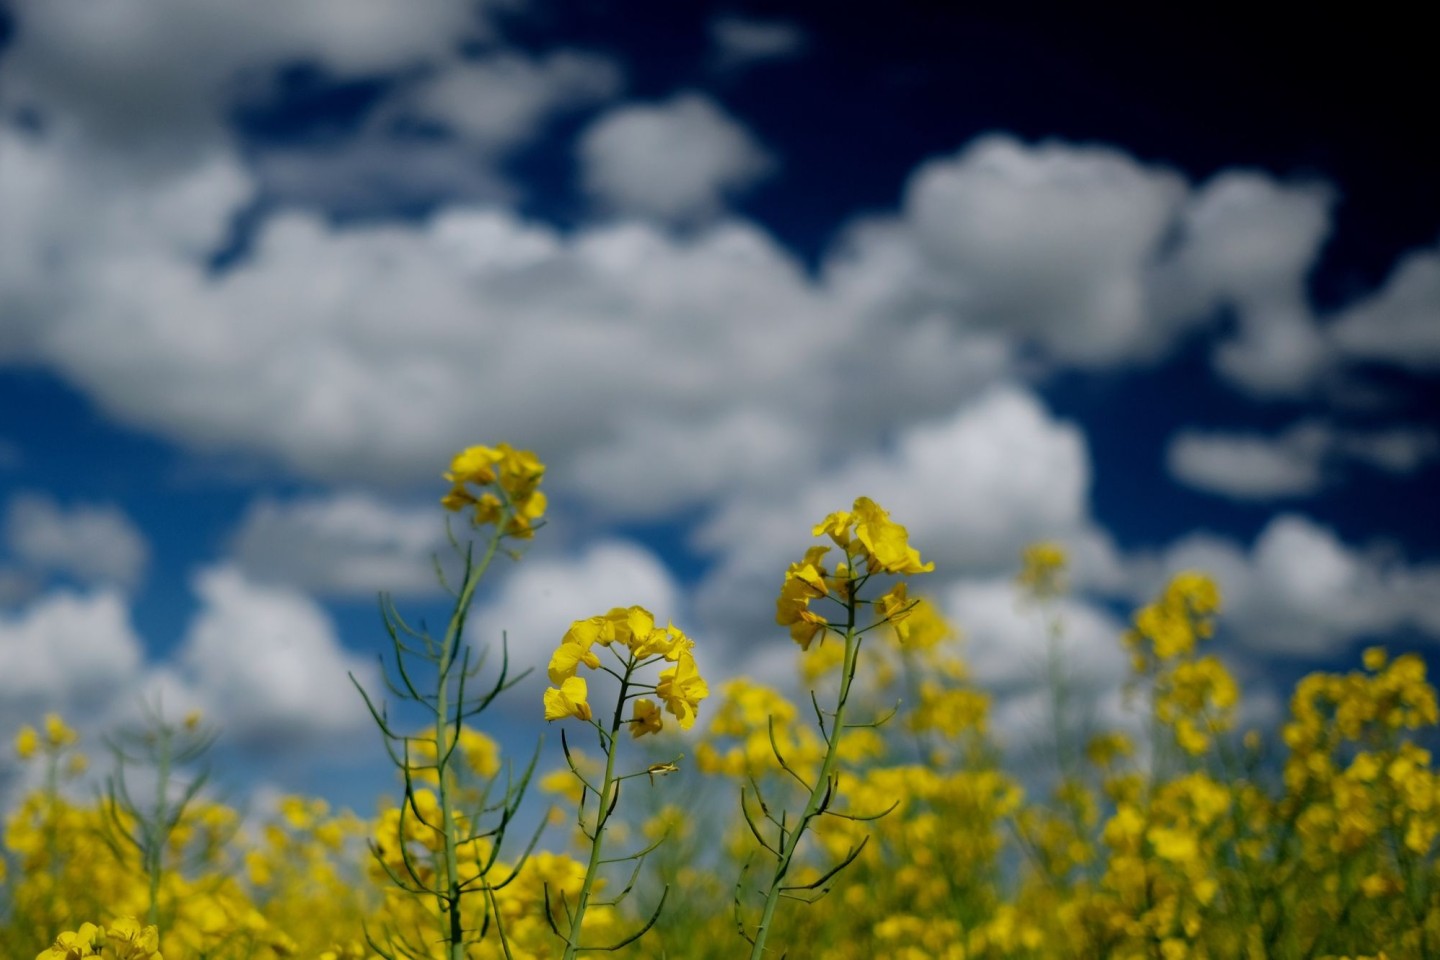
[[[372,694],[374,664],[348,653],[305,594],[216,567],[196,577],[202,609],[177,662],[194,698],[239,743],[304,743],[370,724],[347,674]]]

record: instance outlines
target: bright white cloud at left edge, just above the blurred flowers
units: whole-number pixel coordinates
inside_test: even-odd
[[[0,615],[0,704],[107,704],[130,692],[141,651],[118,592],[45,594],[14,616]]]

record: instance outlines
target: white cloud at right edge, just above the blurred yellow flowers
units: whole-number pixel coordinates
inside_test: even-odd
[[[1140,577],[1143,593],[1187,569],[1215,577],[1223,630],[1251,651],[1326,656],[1405,625],[1440,636],[1440,569],[1356,550],[1295,514],[1272,520],[1248,551],[1210,534],[1175,543]]]

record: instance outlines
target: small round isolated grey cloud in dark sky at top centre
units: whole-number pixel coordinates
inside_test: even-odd
[[[700,94],[618,107],[585,131],[579,154],[585,187],[603,207],[660,220],[719,213],[775,168],[749,131]]]

